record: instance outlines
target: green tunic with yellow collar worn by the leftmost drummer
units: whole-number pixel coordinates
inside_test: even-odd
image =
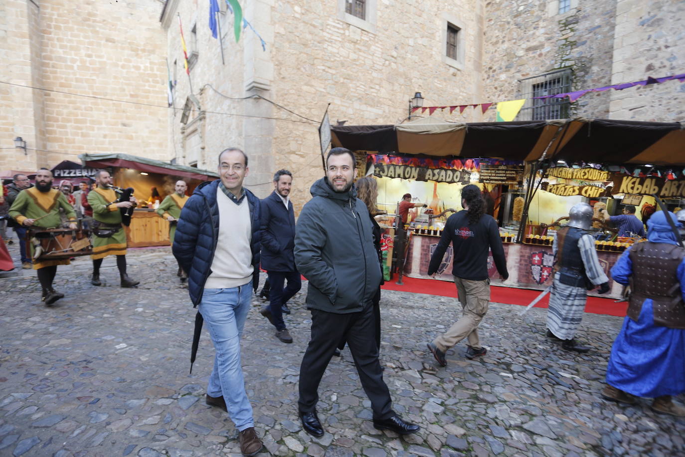
[[[66,197],[57,189],[50,189],[47,192],[40,192],[38,188],[32,187],[22,190],[16,195],[10,217],[13,217],[19,225],[23,226],[25,219],[38,219],[31,228],[56,228],[62,223],[60,208],[64,209],[69,222],[76,222],[74,207],[66,201]],[[27,243],[30,249],[30,256],[34,256],[32,243]],[[69,259],[64,260],[34,260],[34,270],[53,265],[69,265]]]

